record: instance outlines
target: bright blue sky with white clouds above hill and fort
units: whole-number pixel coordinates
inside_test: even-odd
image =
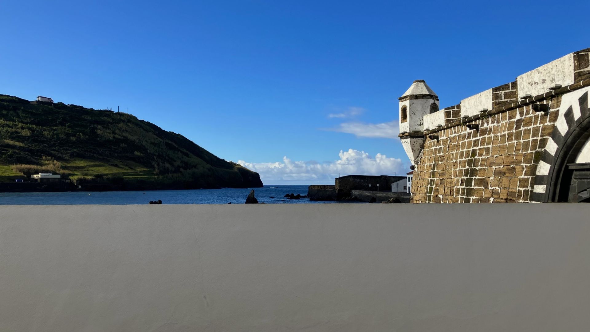
[[[413,80],[445,107],[590,47],[588,1],[2,1],[0,12],[0,93],[128,108],[267,184],[408,171],[392,132]]]

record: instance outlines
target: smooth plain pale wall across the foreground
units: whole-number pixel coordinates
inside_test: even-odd
[[[0,331],[588,331],[589,214],[0,206]]]

